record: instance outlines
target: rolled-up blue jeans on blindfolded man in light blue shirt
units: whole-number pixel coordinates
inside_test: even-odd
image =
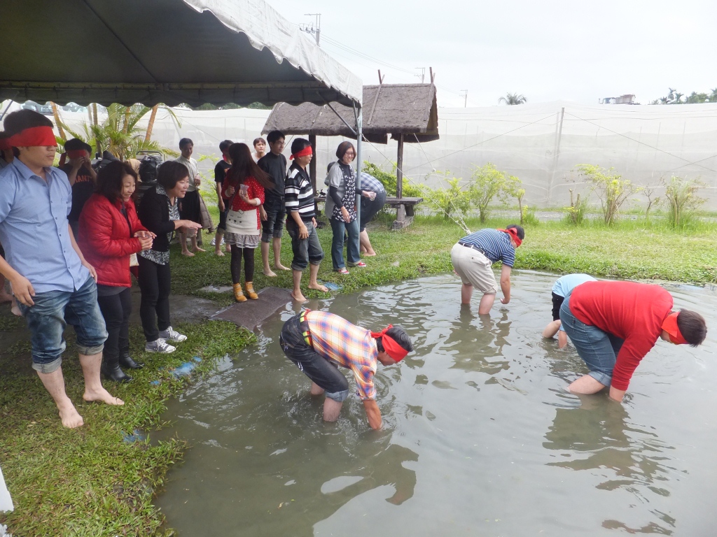
[[[33,306],[19,304],[31,334],[32,369],[52,373],[62,365],[62,353],[67,348],[63,334],[68,324],[77,334],[77,352],[92,356],[103,351],[108,334],[92,276],[80,289],[37,293],[32,300]]]

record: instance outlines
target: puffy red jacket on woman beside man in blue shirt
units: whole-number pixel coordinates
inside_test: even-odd
[[[77,246],[87,263],[95,267],[100,285],[132,286],[130,254],[138,253],[142,248],[139,239],[131,235],[147,231],[137,218],[132,200],[125,203],[126,218],[120,211],[121,206],[119,200],[112,203],[104,195],[92,194],[80,213]]]

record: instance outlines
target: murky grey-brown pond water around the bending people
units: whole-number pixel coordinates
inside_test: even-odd
[[[541,339],[555,276],[517,271],[481,319],[454,276],[315,301],[361,326],[403,324],[417,352],[376,375],[384,429],[355,397],[335,424],[278,344],[171,404],[190,440],[158,505],[180,536],[713,536],[717,291],[670,287],[708,318],[703,347],[658,342],[624,405],[564,391],[585,372]],[[474,311],[478,309],[475,301]],[[349,380],[350,383],[353,379]]]

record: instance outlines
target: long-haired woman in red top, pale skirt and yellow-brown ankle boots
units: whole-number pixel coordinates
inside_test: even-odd
[[[227,229],[224,243],[232,246],[232,284],[234,299],[247,301],[247,296],[256,300],[254,291],[254,251],[259,246],[259,208],[264,203],[264,189],[274,188],[270,177],[252,159],[252,152],[246,144],[229,146],[232,168],[222,183],[222,196],[227,203]],[[244,284],[247,295],[242,291],[242,257],[244,258]]]

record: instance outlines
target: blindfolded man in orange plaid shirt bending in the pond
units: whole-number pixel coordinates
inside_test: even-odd
[[[389,324],[381,332],[371,332],[338,315],[310,310],[285,322],[279,342],[288,359],[311,379],[311,395],[326,392],[323,419],[328,422],[338,420],[341,405],[348,397],[348,381],[338,366],[351,369],[356,395],[364,402],[373,429],[381,428],[374,387],[377,362],[394,365],[413,350],[401,326]]]

